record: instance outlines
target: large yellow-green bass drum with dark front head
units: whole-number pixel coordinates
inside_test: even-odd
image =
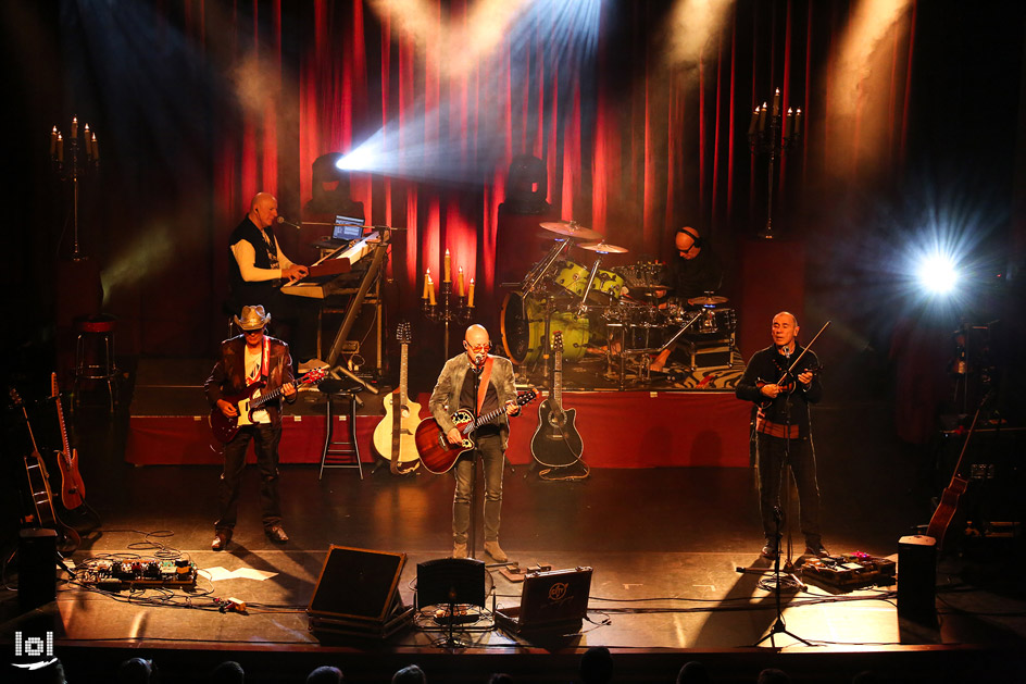
[[[537,298],[515,291],[506,295],[502,300],[499,326],[502,331],[502,347],[513,363],[534,363],[541,358],[545,307]],[[563,333],[563,360],[571,363],[580,361],[591,339],[588,319],[555,312],[549,332],[556,331]]]

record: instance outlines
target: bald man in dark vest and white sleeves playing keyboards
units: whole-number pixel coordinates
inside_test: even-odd
[[[275,311],[275,319],[280,327],[277,336],[290,338],[298,358],[313,356],[314,343],[296,339],[301,332],[300,319],[306,318],[300,311],[297,297],[286,297],[278,289],[279,281],[289,282],[306,275],[306,266],[292,263],[281,251],[272,227],[278,219],[278,200],[270,192],[258,192],[250,202],[249,213],[232,232],[228,238],[228,285],[230,297],[228,307],[238,312],[242,307],[260,302]],[[312,334],[305,335],[313,337]]]

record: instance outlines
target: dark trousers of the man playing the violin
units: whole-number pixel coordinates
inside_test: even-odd
[[[798,487],[801,532],[805,535],[805,545],[816,548],[821,544],[819,487],[816,485],[816,457],[813,453],[810,439],[787,440],[760,433],[758,443],[759,509],[762,514],[762,528],[766,539],[773,540],[776,534],[773,507],[777,505],[777,496],[783,497],[784,495],[780,490],[780,467],[784,463],[785,447],[787,447],[787,462]],[[790,478],[785,482],[789,483]],[[783,501],[783,498],[780,500]],[[780,532],[783,534],[787,525],[787,511],[781,509],[781,512],[785,514],[785,518],[780,521]]]

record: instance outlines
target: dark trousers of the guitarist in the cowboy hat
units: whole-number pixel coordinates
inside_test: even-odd
[[[281,505],[278,499],[278,442],[281,426],[270,423],[247,425],[239,430],[232,442],[225,445],[224,472],[221,473],[218,503],[221,517],[214,526],[217,530],[235,528],[239,508],[239,488],[246,469],[246,451],[250,440],[256,451],[256,470],[260,471],[260,515],[264,527],[281,522]]]

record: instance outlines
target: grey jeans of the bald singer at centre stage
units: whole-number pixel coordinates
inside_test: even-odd
[[[502,511],[502,437],[483,435],[478,437],[477,456],[485,467],[485,542],[499,540],[499,514]],[[452,497],[452,540],[466,544],[466,533],[471,528],[471,490],[476,481],[473,451],[460,457],[453,468],[456,480],[455,494]]]

